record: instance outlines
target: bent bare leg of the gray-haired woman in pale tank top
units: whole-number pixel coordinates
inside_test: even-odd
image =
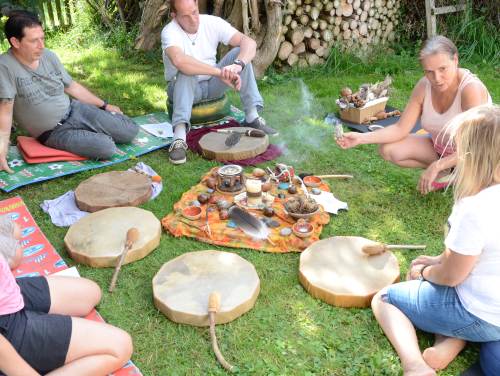
[[[426,168],[439,158],[430,138],[414,134],[398,142],[380,145],[379,153],[386,161],[409,168]]]

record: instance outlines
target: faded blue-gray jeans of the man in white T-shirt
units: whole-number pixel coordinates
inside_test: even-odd
[[[239,53],[239,47],[233,48],[221,59],[217,67],[221,68],[232,64]],[[240,77],[240,98],[245,113],[255,107],[261,109],[264,101],[259,93],[251,63],[248,63],[245,69],[240,72]],[[193,104],[204,99],[218,98],[228,88],[218,77],[211,77],[206,81],[199,82],[197,76],[187,76],[178,72],[175,79],[170,81],[167,86],[168,97],[174,105],[172,114],[172,124],[174,127],[181,123],[188,124],[189,127]]]

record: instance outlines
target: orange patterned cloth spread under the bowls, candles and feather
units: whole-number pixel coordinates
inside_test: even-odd
[[[231,220],[220,219],[219,212],[215,209],[215,205],[210,205],[210,209],[208,209],[208,221],[206,204],[202,205],[202,215],[200,219],[188,220],[184,218],[181,214],[182,210],[185,207],[190,206],[191,203],[197,199],[200,193],[207,192],[207,186],[203,183],[203,181],[208,178],[215,169],[216,168],[212,169],[208,174],[204,175],[199,184],[185,192],[181,199],[174,204],[173,212],[162,219],[162,225],[165,230],[170,232],[175,237],[187,236],[205,243],[222,245],[225,247],[250,248],[273,253],[301,252],[310,244],[319,240],[323,226],[330,221],[330,215],[321,209],[318,214],[309,220],[314,227],[311,236],[308,238],[299,238],[294,234],[282,236],[280,231],[284,228],[291,228],[295,223],[295,220],[286,214],[283,206],[284,199],[276,197],[274,203],[272,204],[272,208],[276,213],[272,217],[272,220],[276,222],[276,227],[270,228],[270,239],[272,243],[274,243],[273,245],[267,240],[250,238],[243,231],[237,228]],[[329,191],[329,187],[326,184],[322,184],[320,189]],[[284,193],[286,191],[278,190],[277,187],[273,187],[270,191],[270,193],[274,196],[277,196],[279,192]],[[301,193],[300,188],[298,188],[298,193]],[[218,191],[214,192],[213,196],[215,196],[213,201],[218,199],[225,199],[230,202],[233,201],[233,196],[223,194]],[[290,195],[287,194],[287,196]],[[248,211],[258,218],[264,218],[262,210],[248,209]],[[209,231],[207,231],[206,227],[207,222],[210,228]]]

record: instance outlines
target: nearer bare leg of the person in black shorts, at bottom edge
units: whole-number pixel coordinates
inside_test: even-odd
[[[122,367],[132,355],[132,339],[114,326],[72,318],[66,363],[48,375],[107,375]]]

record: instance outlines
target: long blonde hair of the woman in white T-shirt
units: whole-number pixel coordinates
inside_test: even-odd
[[[500,107],[482,105],[447,125],[457,151],[455,201],[500,183]]]

